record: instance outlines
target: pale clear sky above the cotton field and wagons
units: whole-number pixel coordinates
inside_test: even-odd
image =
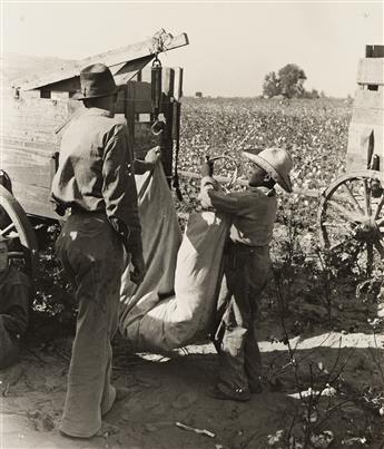
[[[383,1],[7,1],[1,52],[81,59],[150,38],[186,32],[189,46],[160,56],[184,67],[184,92],[254,97],[286,64],[304,87],[346,97],[365,45],[383,45]]]

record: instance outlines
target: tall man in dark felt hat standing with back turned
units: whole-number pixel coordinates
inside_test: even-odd
[[[63,133],[52,182],[58,213],[70,211],[56,250],[78,301],[77,330],[60,430],[88,438],[101,429],[119,392],[110,383],[124,247],[140,283],[145,264],[132,153],[114,116],[117,86],[102,64],[80,72],[85,110]]]

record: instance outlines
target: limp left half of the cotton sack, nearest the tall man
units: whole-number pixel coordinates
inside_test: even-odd
[[[129,279],[132,266],[127,261],[121,277],[120,331],[127,334],[128,326],[139,320],[159,296],[174,293],[177,252],[181,233],[161,165],[152,173],[135,176],[141,223],[142,253],[146,275],[139,286]]]

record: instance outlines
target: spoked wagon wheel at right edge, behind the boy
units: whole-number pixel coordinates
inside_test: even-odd
[[[346,174],[322,195],[317,222],[319,241],[345,265],[372,275],[384,261],[384,174]]]

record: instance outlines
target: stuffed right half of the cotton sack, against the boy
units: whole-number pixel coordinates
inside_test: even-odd
[[[126,329],[140,351],[168,351],[207,332],[214,316],[228,223],[213,212],[190,215],[177,256],[175,296],[160,301]]]

